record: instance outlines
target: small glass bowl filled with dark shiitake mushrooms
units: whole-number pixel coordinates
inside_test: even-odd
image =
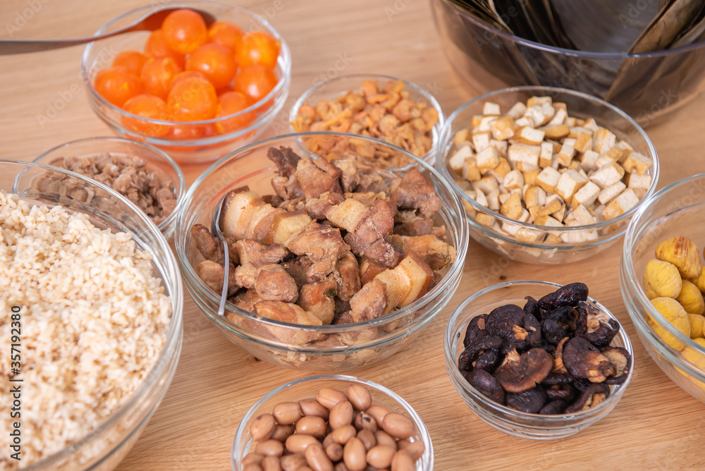
[[[584,283],[508,281],[455,309],[444,341],[448,377],[484,422],[558,439],[608,415],[632,377],[632,344]]]

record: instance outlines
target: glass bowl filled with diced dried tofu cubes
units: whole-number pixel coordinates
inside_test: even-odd
[[[564,264],[621,238],[658,181],[658,157],[630,116],[556,87],[496,90],[460,106],[436,166],[465,206],[470,236],[500,255]]]

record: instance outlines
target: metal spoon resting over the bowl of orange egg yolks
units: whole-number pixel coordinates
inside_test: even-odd
[[[75,46],[76,44],[85,44],[87,42],[97,41],[98,39],[121,35],[124,32],[156,31],[159,30],[161,23],[169,13],[179,9],[180,8],[161,8],[160,10],[154,10],[127,26],[121,27],[118,30],[106,32],[103,35],[74,37],[69,39],[0,39],[0,56],[7,56],[9,54],[25,54],[27,52],[36,51],[49,51],[51,49],[59,49],[61,47]],[[196,10],[195,8],[190,9],[198,13],[201,18],[203,18],[206,26],[212,25],[216,20],[214,16],[206,11]]]

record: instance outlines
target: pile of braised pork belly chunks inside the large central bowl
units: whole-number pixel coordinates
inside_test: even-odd
[[[353,154],[328,161],[288,147],[272,147],[267,157],[276,165],[276,194],[232,190],[218,221],[235,306],[291,324],[363,322],[421,298],[455,260],[445,227],[435,222],[441,199],[417,169],[385,177]],[[204,259],[197,273],[221,293],[223,245],[200,224],[191,236]],[[284,340],[281,328],[263,329]]]

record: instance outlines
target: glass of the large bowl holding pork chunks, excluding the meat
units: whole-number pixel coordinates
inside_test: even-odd
[[[283,367],[317,372],[341,372],[362,365],[379,362],[396,353],[414,338],[448,304],[462,274],[467,251],[467,228],[462,224],[462,206],[439,173],[418,157],[402,149],[370,139],[355,136],[367,145],[393,152],[403,152],[422,169],[434,186],[436,195],[443,202],[443,209],[436,214],[436,224],[445,224],[446,240],[457,250],[453,264],[444,268],[443,279],[422,298],[410,305],[376,319],[356,324],[301,326],[259,317],[241,310],[228,302],[226,312],[236,320],[231,322],[218,313],[220,293],[214,293],[196,274],[195,267],[203,259],[190,237],[194,224],[211,227],[212,214],[227,192],[242,185],[260,195],[273,193],[271,177],[276,166],[266,158],[269,147],[292,147],[295,152],[307,152],[303,140],[309,137],[326,137],[333,141],[348,140],[353,135],[335,133],[300,133],[271,137],[243,147],[210,166],[193,183],[186,195],[187,204],[180,208],[174,236],[176,253],[186,287],[210,322],[221,334],[255,357]],[[380,170],[384,176],[393,171]],[[266,329],[265,329],[266,327]],[[307,336],[317,340],[304,345],[293,345],[273,339],[269,329],[276,329],[283,336]]]

